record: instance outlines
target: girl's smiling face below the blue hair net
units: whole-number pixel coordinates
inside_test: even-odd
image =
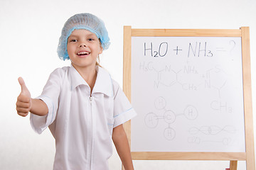
[[[103,51],[100,40],[89,30],[73,30],[68,38],[68,56],[76,69],[95,69],[97,56]]]

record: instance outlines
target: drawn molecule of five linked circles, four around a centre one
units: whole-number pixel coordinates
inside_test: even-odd
[[[171,128],[171,124],[176,121],[176,118],[180,115],[185,116],[188,120],[195,120],[198,117],[198,111],[194,106],[188,105],[183,110],[183,113],[176,114],[174,111],[166,109],[166,100],[164,97],[156,98],[154,102],[156,110],[162,112],[161,115],[156,113],[147,113],[144,117],[144,122],[148,128],[156,128],[160,120],[164,120],[164,123],[167,123],[167,128],[164,129],[164,137],[166,140],[174,140],[176,137],[176,131],[174,128]]]

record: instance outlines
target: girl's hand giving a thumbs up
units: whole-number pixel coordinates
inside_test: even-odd
[[[25,117],[32,107],[31,94],[21,77],[18,78],[18,83],[21,85],[21,94],[17,98],[16,110],[18,115]]]

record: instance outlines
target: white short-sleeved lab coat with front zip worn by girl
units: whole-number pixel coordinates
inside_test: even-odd
[[[53,169],[107,170],[112,155],[112,130],[136,113],[110,74],[96,67],[97,79],[90,86],[71,67],[55,69],[41,96],[48,115],[31,114],[33,130],[50,128],[55,138]]]

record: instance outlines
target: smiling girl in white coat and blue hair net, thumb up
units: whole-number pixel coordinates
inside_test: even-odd
[[[50,74],[41,96],[31,98],[23,79],[18,115],[31,113],[31,126],[41,134],[46,128],[55,138],[53,169],[108,169],[112,141],[125,169],[134,169],[122,123],[136,113],[97,57],[110,45],[104,23],[90,13],[72,16],[65,23],[58,56],[70,67]]]

